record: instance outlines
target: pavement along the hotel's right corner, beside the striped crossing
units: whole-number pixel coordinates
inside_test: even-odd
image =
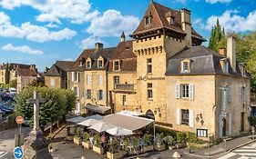
[[[226,150],[225,150],[225,142],[222,142],[218,145],[213,145],[210,147],[210,151],[208,148],[200,150],[196,153],[192,153],[191,155],[199,155],[201,157],[205,157],[205,158],[214,158],[213,156],[221,156],[223,154],[227,154],[228,152],[230,152],[232,149],[234,148],[239,148],[241,147],[243,144],[250,144],[252,142],[255,142],[255,140],[251,139],[251,135],[248,136],[243,136],[243,137],[239,137],[239,138],[235,138],[235,139],[231,139],[230,141],[227,141],[226,143]],[[189,153],[189,150],[186,149],[188,152],[186,152],[186,154]],[[209,154],[210,152],[210,154]]]

